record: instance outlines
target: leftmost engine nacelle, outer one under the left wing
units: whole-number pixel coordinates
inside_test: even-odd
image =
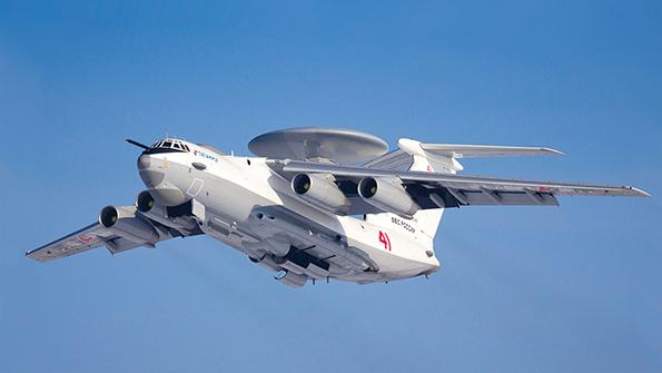
[[[99,214],[99,224],[138,244],[152,244],[159,239],[154,226],[137,217],[132,207],[106,206]]]

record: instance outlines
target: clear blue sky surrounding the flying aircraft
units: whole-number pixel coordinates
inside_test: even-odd
[[[131,137],[540,145],[465,174],[652,198],[444,215],[429,281],[293,291],[207,237],[40,264],[132,204]],[[0,2],[1,372],[662,371],[659,1]]]

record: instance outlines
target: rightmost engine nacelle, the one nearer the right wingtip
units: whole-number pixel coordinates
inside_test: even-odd
[[[358,195],[367,204],[408,219],[421,208],[398,179],[366,177],[358,183]]]

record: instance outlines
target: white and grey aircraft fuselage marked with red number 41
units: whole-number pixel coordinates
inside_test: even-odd
[[[310,259],[329,264],[328,273],[317,278],[358,283],[407,278],[438,268],[431,238],[416,232],[415,222],[383,214],[383,223],[373,224],[336,215],[297,196],[266,158],[228,156],[185,144],[188,151],[146,151],[139,157],[138,169],[148,190],[169,206],[192,200],[200,229],[254,262],[268,255],[265,266],[271,261],[280,265],[295,247],[309,253]],[[300,268],[290,271],[296,269]]]

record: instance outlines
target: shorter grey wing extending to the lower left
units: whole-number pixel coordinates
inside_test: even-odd
[[[123,206],[120,208],[132,210],[134,214],[136,214],[136,208],[134,206]],[[155,238],[147,242],[140,242],[136,238],[136,236],[131,236],[130,233],[127,234],[122,233],[121,230],[109,229],[99,223],[93,223],[82,229],[76,230],[65,237],[56,239],[50,244],[46,244],[33,251],[27,252],[26,256],[38,262],[49,262],[87,252],[99,246],[106,246],[110,254],[118,254],[140,246],[154,247],[156,243],[172,237],[198,234],[197,232],[174,232],[172,229],[169,229],[140,214],[136,214],[134,218],[140,219],[140,222],[149,224],[151,227],[154,227],[154,232],[156,234],[154,236]]]

